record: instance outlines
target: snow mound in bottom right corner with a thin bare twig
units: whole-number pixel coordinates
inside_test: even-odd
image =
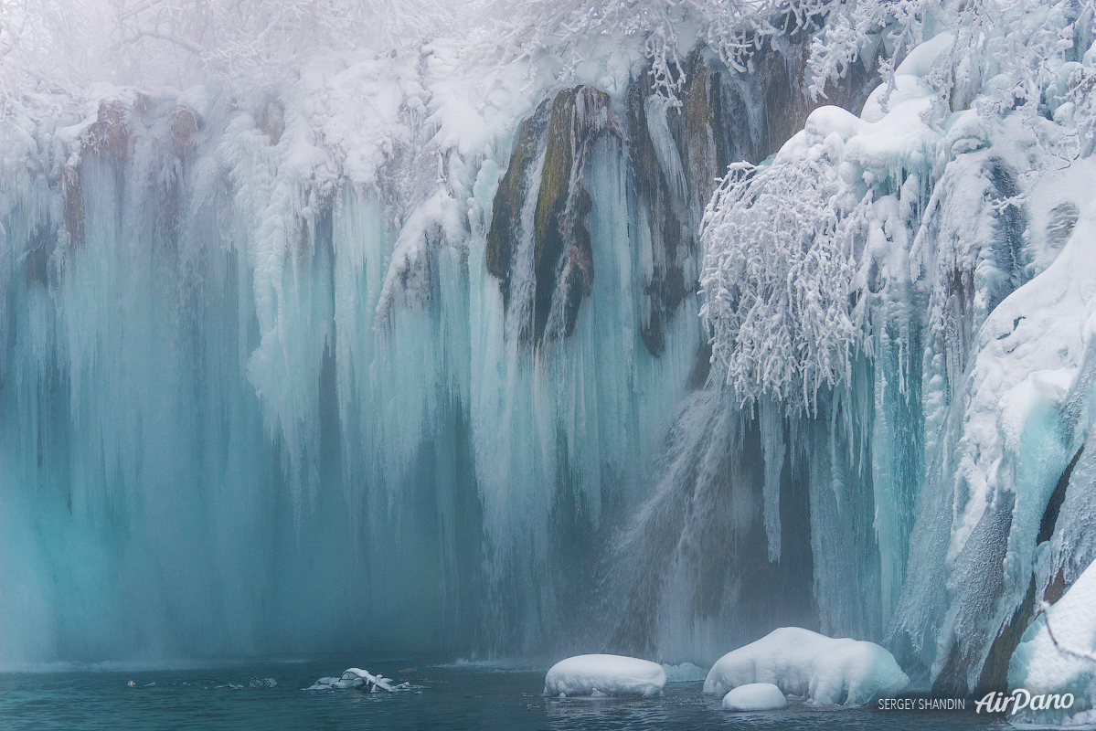
[[[1048,627],[1049,626],[1049,627]],[[1027,628],[1008,666],[1008,686],[1031,695],[1017,720],[1035,724],[1096,723],[1096,563]],[[1035,698],[1072,694],[1068,708]],[[1055,707],[1058,706],[1058,707]]]

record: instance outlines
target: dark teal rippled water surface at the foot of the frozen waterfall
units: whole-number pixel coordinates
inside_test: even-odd
[[[22,730],[282,730],[282,729],[726,729],[936,731],[1004,727],[973,710],[787,710],[731,713],[700,693],[701,683],[672,683],[649,699],[547,699],[545,669],[418,665],[416,692],[365,694],[304,690],[349,666],[403,678],[408,660],[338,658],[254,662],[208,670],[79,670],[0,674],[0,729]],[[274,687],[250,687],[272,677]],[[133,681],[137,687],[130,688]],[[155,685],[151,685],[153,684]],[[230,686],[243,686],[233,688]],[[221,687],[218,687],[221,686]],[[969,705],[970,707],[970,705]]]

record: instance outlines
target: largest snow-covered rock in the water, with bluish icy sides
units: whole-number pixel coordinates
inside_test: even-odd
[[[704,692],[723,695],[747,683],[773,683],[815,705],[863,706],[898,693],[910,678],[890,652],[874,642],[834,639],[781,627],[719,659]]]

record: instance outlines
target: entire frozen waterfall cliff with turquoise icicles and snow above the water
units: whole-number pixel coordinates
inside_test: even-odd
[[[1096,557],[1092,0],[320,5],[0,5],[0,666],[1035,677]]]

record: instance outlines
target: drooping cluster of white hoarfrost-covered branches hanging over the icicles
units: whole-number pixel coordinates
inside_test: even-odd
[[[833,165],[731,167],[701,228],[712,362],[743,403],[763,393],[811,410],[860,347],[854,233]]]

